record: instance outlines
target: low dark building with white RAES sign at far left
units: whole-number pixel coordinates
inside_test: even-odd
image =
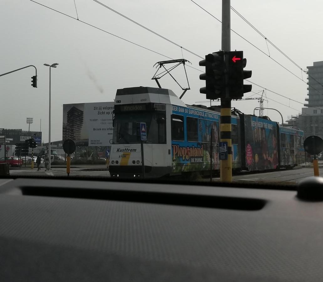
[[[7,145],[23,143],[25,140],[35,138],[37,145],[41,145],[42,133],[40,131],[24,131],[22,129],[0,128],[0,136],[5,136]]]

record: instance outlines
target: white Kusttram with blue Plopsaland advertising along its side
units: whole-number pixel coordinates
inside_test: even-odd
[[[142,177],[141,122],[145,177],[219,172],[220,108],[186,105],[172,90],[131,87],[115,97],[111,177]],[[232,168],[234,171],[292,168],[305,162],[304,132],[266,118],[232,111]],[[214,129],[212,131],[212,129]],[[212,156],[211,156],[211,132]]]

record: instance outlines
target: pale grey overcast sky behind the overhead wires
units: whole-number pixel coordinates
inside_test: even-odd
[[[150,28],[173,42],[204,57],[221,49],[221,24],[190,0],[99,0],[121,14]],[[194,0],[221,20],[221,0]],[[74,0],[39,0],[39,3],[77,17]],[[133,41],[165,56],[182,58],[182,51],[168,41],[135,25],[93,0],[75,0],[78,18],[93,26]],[[231,5],[302,68],[323,60],[321,1],[239,1]],[[231,11],[231,28],[268,54],[265,39]],[[117,89],[135,86],[157,87],[151,80],[153,65],[168,58],[135,46],[28,0],[1,0],[0,74],[35,65],[38,88],[33,88],[33,68],[0,77],[0,128],[28,130],[26,117],[33,117],[31,130],[41,130],[48,141],[49,70],[44,63],[59,63],[52,69],[52,141],[62,139],[63,104],[113,101]],[[243,50],[251,81],[301,103],[307,97],[305,82],[280,67],[241,37],[231,33],[231,49]],[[270,56],[302,78],[301,70],[269,45]],[[194,68],[203,70],[199,57],[183,50]],[[200,94],[202,72],[187,68],[191,90],[183,97],[187,104],[205,101]],[[186,87],[183,69],[174,72]],[[163,88],[178,96],[182,90],[169,78],[160,80]],[[253,91],[263,88],[253,86]],[[254,93],[246,93],[249,97]],[[268,107],[287,116],[301,112],[302,105],[267,91]],[[257,97],[254,95],[253,97]],[[259,96],[258,96],[259,97]],[[272,100],[271,100],[272,99]],[[274,100],[274,101],[273,101]],[[281,105],[280,102],[284,105]],[[214,103],[217,104],[217,103]],[[207,104],[206,104],[207,105]],[[258,100],[233,101],[232,106],[252,114]],[[267,107],[267,102],[264,102]],[[297,110],[293,110],[292,107]],[[264,112],[267,114],[267,110]],[[272,120],[281,122],[275,111]]]

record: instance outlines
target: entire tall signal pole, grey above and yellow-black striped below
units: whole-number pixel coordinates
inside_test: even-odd
[[[228,52],[231,49],[230,32],[230,0],[222,0],[222,51]],[[225,62],[227,64],[228,60]],[[225,67],[229,69],[227,65]],[[225,76],[228,76],[227,73]],[[228,85],[225,88],[225,98],[221,98],[220,139],[221,142],[228,143],[228,158],[220,160],[220,180],[232,182],[231,98]]]

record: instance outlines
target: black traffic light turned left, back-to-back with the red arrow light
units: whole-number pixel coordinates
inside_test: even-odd
[[[211,100],[225,97],[224,51],[206,55],[199,65],[205,67],[205,73],[200,75],[200,79],[205,80],[205,87],[200,88],[200,93]]]

